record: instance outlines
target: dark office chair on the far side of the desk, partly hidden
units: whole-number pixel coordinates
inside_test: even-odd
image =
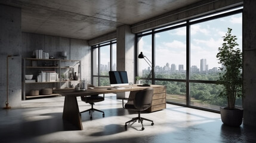
[[[95,87],[95,86],[88,84],[87,87],[90,88],[90,87]],[[92,112],[99,111],[99,112],[103,113],[102,116],[104,117],[105,116],[104,111],[97,110],[97,109],[93,108],[94,102],[104,101],[104,97],[105,97],[104,94],[103,94],[103,97],[101,97],[99,95],[81,96],[81,100],[86,103],[91,104],[91,108],[80,112],[80,114],[89,111],[89,114],[91,114],[90,119],[92,120]]]

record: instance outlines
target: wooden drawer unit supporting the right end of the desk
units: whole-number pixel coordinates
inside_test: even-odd
[[[166,108],[166,86],[152,86],[152,88],[154,89],[152,106],[147,111],[152,112]]]

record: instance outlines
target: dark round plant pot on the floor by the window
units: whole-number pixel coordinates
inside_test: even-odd
[[[243,109],[230,110],[226,107],[220,107],[220,116],[224,125],[240,126],[243,122]]]

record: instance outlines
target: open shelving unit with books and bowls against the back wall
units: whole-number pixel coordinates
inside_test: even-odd
[[[50,73],[54,76],[48,77]],[[78,80],[73,80],[74,73],[77,73]],[[26,80],[26,74],[33,74],[32,80]],[[39,76],[41,74],[41,77]],[[46,80],[42,80],[42,74],[48,74]],[[72,75],[72,76],[71,76]],[[38,80],[39,77],[39,80]],[[38,59],[24,58],[23,59],[23,95],[22,99],[32,99],[38,97],[60,96],[54,94],[54,89],[74,88],[81,79],[81,60],[58,60],[58,59]],[[41,91],[45,88],[53,89],[53,94],[30,95],[30,91]]]

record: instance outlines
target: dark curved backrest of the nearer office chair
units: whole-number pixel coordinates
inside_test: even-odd
[[[151,107],[153,99],[153,88],[146,88],[136,93],[134,97],[134,107],[139,110],[146,110]]]

